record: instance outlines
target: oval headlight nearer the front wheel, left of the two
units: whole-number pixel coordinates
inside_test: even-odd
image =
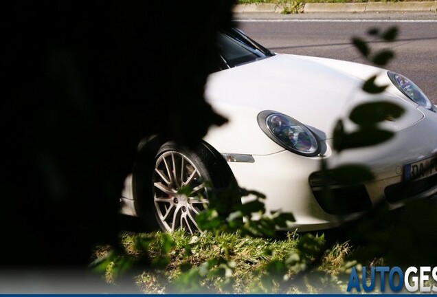
[[[313,133],[301,122],[276,111],[261,111],[258,124],[271,140],[299,155],[313,156],[319,153],[319,145]]]

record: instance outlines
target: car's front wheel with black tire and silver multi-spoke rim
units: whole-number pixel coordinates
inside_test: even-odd
[[[158,137],[144,144],[141,155],[134,168],[133,190],[137,212],[152,229],[172,232],[182,227],[197,232],[196,214],[214,199],[227,199],[226,195],[218,198],[216,192],[236,188],[227,162],[206,142],[190,150]]]

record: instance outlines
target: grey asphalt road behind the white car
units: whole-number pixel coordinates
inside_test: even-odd
[[[254,16],[237,15],[238,27],[273,52],[366,63],[351,45],[352,36],[366,38],[374,50],[390,47],[396,56],[387,68],[412,79],[437,104],[437,14]],[[393,25],[399,28],[394,43],[366,35],[369,28],[384,30]]]

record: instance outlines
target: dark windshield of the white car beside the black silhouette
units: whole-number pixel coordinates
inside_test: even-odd
[[[217,37],[217,43],[224,64],[221,69],[273,56],[265,47],[249,39],[243,32],[236,29],[221,32]]]

